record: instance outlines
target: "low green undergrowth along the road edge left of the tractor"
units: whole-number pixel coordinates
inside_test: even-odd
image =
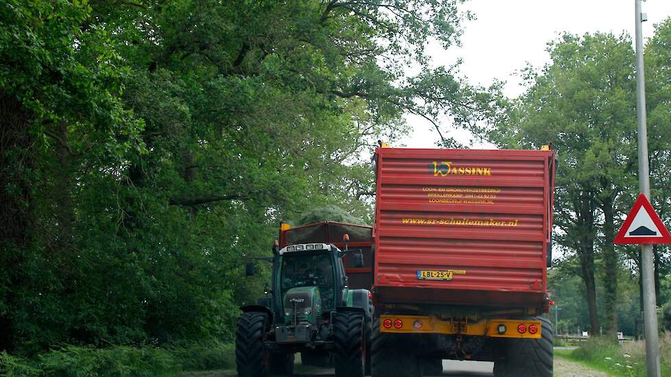
[[[235,367],[233,345],[219,341],[110,348],[64,345],[32,358],[0,354],[1,376],[174,376]]]

